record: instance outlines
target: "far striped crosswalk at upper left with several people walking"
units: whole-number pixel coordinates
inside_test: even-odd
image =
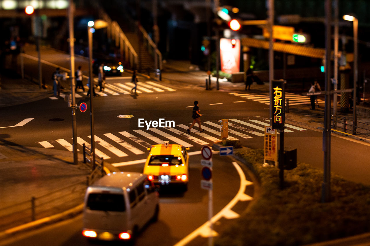
[[[95,88],[95,93],[97,93],[100,96],[108,96],[108,95],[129,95],[131,94],[131,89],[134,87],[134,83],[131,82],[122,82],[122,83],[106,83],[104,85],[104,90],[102,92],[98,91]],[[75,93],[76,98],[83,98],[87,96],[88,92],[88,86],[84,85],[85,92],[82,91],[82,89],[77,89],[77,92]],[[100,89],[100,88],[99,88]],[[169,88],[165,85],[161,85],[159,83],[153,82],[153,81],[145,81],[145,82],[138,82],[137,83],[137,90],[136,93],[152,93],[152,92],[174,92],[175,89]],[[65,97],[64,93],[60,93],[60,96],[62,98]],[[56,96],[50,96],[49,97],[52,100],[58,99]]]

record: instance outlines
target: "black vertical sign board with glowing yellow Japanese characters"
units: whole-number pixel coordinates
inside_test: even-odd
[[[272,81],[272,129],[284,130],[285,124],[285,88],[284,80]]]

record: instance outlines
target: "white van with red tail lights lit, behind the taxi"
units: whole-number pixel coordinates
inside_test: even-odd
[[[139,230],[159,213],[159,195],[147,175],[113,172],[85,194],[83,235],[89,239],[134,242]]]

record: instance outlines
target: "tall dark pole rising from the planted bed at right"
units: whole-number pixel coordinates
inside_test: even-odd
[[[324,151],[324,180],[322,183],[322,202],[330,201],[330,54],[331,54],[331,28],[332,28],[332,0],[325,0],[325,109],[323,130]]]

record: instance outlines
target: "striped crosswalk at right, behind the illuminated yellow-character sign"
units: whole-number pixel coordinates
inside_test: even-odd
[[[229,92],[229,94],[234,96],[240,96],[241,98],[250,99],[256,102],[265,103],[270,105],[270,95],[269,92],[262,93],[237,93]],[[285,93],[285,99],[289,99],[289,106],[300,105],[300,104],[310,104],[310,98],[307,96],[302,96],[295,93]],[[317,99],[317,102],[324,103],[324,100]]]

